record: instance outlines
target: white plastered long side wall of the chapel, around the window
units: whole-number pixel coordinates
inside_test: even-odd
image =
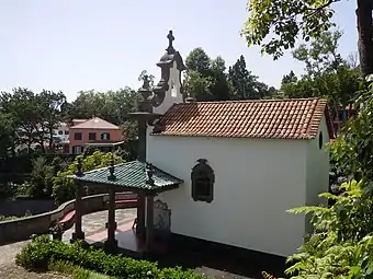
[[[305,204],[305,140],[148,136],[147,161],[184,181],[160,198],[173,233],[287,256],[302,245],[305,220],[285,211]],[[193,201],[197,159],[215,172],[214,200]]]

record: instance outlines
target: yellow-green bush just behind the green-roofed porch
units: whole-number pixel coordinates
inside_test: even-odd
[[[82,159],[82,171],[88,172],[110,165],[112,153],[93,152],[91,155],[78,155],[75,161],[65,171],[59,171],[53,179],[53,194],[57,204],[63,204],[75,198],[75,183],[72,178],[67,177],[77,172],[78,159]],[[122,163],[122,156],[114,153],[115,164]],[[89,194],[89,193],[88,193]]]

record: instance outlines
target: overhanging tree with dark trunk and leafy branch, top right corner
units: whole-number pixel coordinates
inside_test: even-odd
[[[341,0],[249,0],[250,13],[242,30],[248,45],[261,46],[261,51],[278,59],[284,49],[293,48],[296,38],[308,42],[319,38],[331,22],[334,7]],[[344,0],[346,1],[346,0]],[[358,49],[361,72],[373,73],[373,1],[357,0]],[[352,12],[352,11],[351,11]],[[273,35],[272,35],[273,34]],[[269,42],[264,42],[271,37]]]

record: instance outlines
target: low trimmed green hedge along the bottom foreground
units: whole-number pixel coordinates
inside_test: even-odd
[[[47,270],[52,261],[63,260],[81,268],[117,278],[128,279],[203,279],[193,270],[158,268],[157,263],[138,260],[122,255],[110,255],[103,249],[84,247],[82,242],[67,244],[50,240],[49,235],[33,237],[15,257],[15,263],[26,269]]]

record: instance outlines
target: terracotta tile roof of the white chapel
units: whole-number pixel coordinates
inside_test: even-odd
[[[327,101],[321,98],[182,103],[161,116],[152,135],[313,139],[324,114],[334,138]]]

